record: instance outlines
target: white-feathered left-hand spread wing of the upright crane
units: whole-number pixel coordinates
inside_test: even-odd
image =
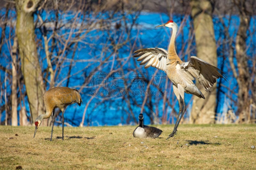
[[[148,62],[145,68],[152,66],[159,70],[166,71],[167,51],[164,48],[143,48],[134,51],[134,54],[136,55],[133,57],[139,57],[137,61],[141,61],[140,65]]]

